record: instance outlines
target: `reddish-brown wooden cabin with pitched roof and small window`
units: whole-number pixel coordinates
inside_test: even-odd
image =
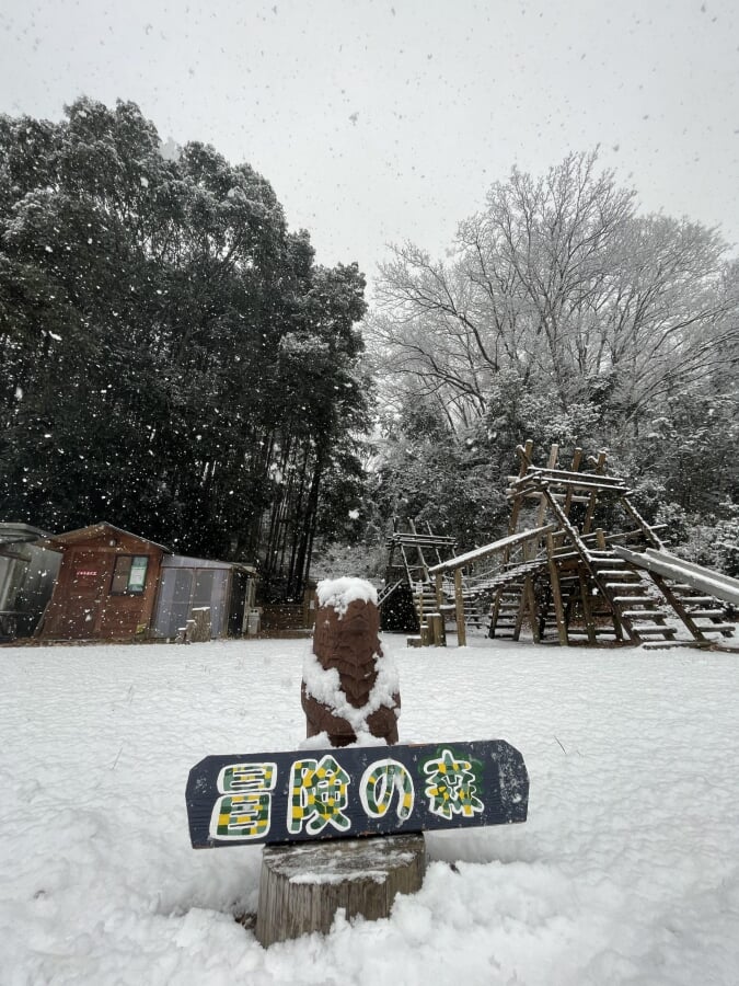
[[[146,637],[164,555],[172,552],[112,524],[44,538],[61,552],[42,640],[132,640]]]

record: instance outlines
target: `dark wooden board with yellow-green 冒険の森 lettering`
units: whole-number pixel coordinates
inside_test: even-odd
[[[503,740],[206,757],[186,792],[196,849],[506,825],[528,799]]]

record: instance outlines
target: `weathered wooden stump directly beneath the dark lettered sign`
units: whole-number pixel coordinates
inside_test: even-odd
[[[415,893],[426,871],[422,834],[265,846],[256,938],[265,948],[326,933],[336,912],[388,917],[395,894]]]

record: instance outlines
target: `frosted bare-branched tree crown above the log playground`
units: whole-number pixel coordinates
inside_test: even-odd
[[[596,153],[570,154],[493,185],[447,261],[395,248],[372,331],[393,377],[455,427],[486,415],[507,372],[554,413],[590,403],[634,431],[650,402],[716,368],[737,313],[726,256],[711,230],[638,216]]]

